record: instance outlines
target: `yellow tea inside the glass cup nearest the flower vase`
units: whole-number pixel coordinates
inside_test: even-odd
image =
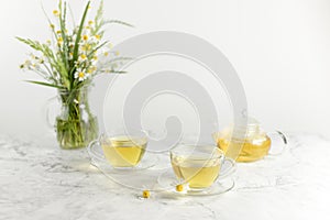
[[[146,138],[125,135],[101,141],[105,156],[113,167],[136,166],[144,155],[146,144]]]

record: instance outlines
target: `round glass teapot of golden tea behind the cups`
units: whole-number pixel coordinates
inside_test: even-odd
[[[248,119],[246,127],[237,128],[237,133],[233,133],[233,127],[227,128],[216,134],[213,139],[217,142],[218,147],[220,147],[224,153],[228,153],[229,148],[237,150],[235,161],[237,162],[254,162],[258,161],[266,155],[278,155],[283,152],[287,145],[287,138],[280,132],[264,132],[257,120],[254,118]],[[242,132],[245,136],[242,138]],[[275,139],[280,139],[283,144],[282,150],[274,152],[273,142]],[[276,144],[277,146],[278,144]],[[278,150],[278,148],[277,148]]]

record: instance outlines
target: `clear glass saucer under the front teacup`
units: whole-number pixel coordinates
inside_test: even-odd
[[[226,160],[221,166],[220,175],[216,183],[213,183],[212,186],[200,190],[189,189],[187,186],[184,186],[183,191],[177,191],[176,186],[179,185],[180,182],[176,178],[172,168],[168,168],[166,172],[161,174],[157,182],[162,190],[173,194],[183,196],[213,196],[227,193],[234,187],[234,180],[230,177],[234,170],[234,162],[232,160]]]

